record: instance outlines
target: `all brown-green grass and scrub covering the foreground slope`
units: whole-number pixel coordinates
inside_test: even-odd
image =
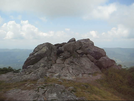
[[[103,77],[100,80],[91,83],[75,82],[65,79],[56,79],[45,77],[41,84],[60,84],[74,93],[77,97],[86,100],[133,100],[134,99],[134,69],[115,70],[109,69],[103,71]],[[5,99],[4,93],[18,88],[23,90],[34,89],[37,87],[37,81],[22,81],[17,83],[6,83],[0,81],[0,100]],[[30,85],[31,86],[26,86]],[[71,87],[71,89],[69,89]]]

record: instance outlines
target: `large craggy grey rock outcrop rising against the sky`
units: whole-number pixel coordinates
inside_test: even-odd
[[[90,39],[72,38],[67,43],[38,45],[25,61],[23,71],[43,68],[42,75],[74,79],[113,67],[121,68]]]

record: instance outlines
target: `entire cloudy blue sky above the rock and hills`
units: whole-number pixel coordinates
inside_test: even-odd
[[[134,48],[134,0],[0,0],[0,49],[71,38]]]

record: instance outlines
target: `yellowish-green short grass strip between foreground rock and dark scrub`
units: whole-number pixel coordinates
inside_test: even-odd
[[[61,82],[62,81],[62,82]],[[55,78],[46,78],[46,84],[61,84],[66,88],[73,87],[73,92],[77,97],[85,98],[86,100],[122,100],[121,97],[107,91],[103,86],[94,86],[90,83],[75,82],[62,79],[59,81]]]

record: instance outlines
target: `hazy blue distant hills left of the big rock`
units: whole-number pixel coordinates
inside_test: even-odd
[[[22,68],[31,52],[30,49],[0,49],[0,67]]]

